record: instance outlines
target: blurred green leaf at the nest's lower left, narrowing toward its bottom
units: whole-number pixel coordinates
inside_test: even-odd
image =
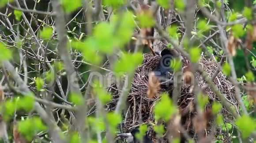
[[[107,113],[107,121],[109,123],[110,131],[114,133],[116,131],[117,125],[122,121],[122,118],[120,114],[109,112]]]

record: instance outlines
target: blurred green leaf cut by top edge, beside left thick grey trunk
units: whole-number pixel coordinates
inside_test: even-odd
[[[83,6],[82,0],[61,0],[64,11],[70,13]]]

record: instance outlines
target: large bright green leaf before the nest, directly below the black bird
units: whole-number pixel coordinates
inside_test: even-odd
[[[167,93],[163,93],[161,100],[154,107],[155,119],[168,121],[173,114],[177,113],[177,107],[173,104]]]

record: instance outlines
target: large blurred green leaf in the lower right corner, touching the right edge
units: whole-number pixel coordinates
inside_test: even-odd
[[[244,139],[248,138],[256,127],[254,120],[245,114],[237,119],[236,125],[240,129]]]

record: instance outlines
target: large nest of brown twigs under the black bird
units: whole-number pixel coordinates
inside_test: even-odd
[[[150,99],[147,97],[147,90],[148,90],[148,75],[149,72],[152,71],[157,65],[160,60],[159,56],[153,56],[151,54],[144,54],[144,61],[143,64],[137,68],[135,77],[132,82],[132,88],[128,95],[127,100],[127,107],[128,111],[124,114],[125,119],[122,124],[122,131],[129,132],[131,129],[138,127],[141,124],[149,125],[149,131],[147,134],[154,140],[156,139],[156,133],[153,130],[152,125],[155,124],[154,121],[154,106],[161,99],[161,93],[169,92],[171,88],[165,89],[161,88],[157,93],[157,96]],[[200,64],[203,65],[204,71],[208,73],[211,77],[214,72],[217,70],[218,63],[202,57],[200,60]],[[183,62],[183,66],[186,66],[186,63]],[[198,86],[201,88],[203,87],[206,82],[203,80],[202,76],[199,73],[196,73],[196,79],[198,80]],[[233,105],[235,110],[238,112],[238,102],[235,98],[235,89],[233,84],[227,80],[226,76],[219,72],[216,76],[214,83],[218,87],[219,91],[225,96],[226,100]],[[195,127],[193,126],[193,118],[196,115],[196,110],[193,109],[194,106],[194,93],[190,93],[190,85],[182,86],[181,95],[178,97],[178,107],[180,111],[184,111],[181,115],[182,122],[181,125],[183,128],[188,132],[191,138],[196,139]],[[117,86],[112,84],[109,87],[109,92],[113,94],[113,101],[107,105],[110,110],[114,110],[119,98],[119,93]],[[213,101],[220,102],[218,97],[215,93],[211,90],[211,88],[207,88],[205,91],[205,95],[209,97],[209,103],[207,104],[207,108],[211,107]],[[188,110],[189,109],[189,110]],[[230,114],[229,111],[222,108],[221,114],[224,118],[224,124],[232,123],[234,118]],[[153,124],[151,124],[153,123]],[[215,125],[213,121],[209,121],[207,123],[207,129],[205,129],[205,135],[209,136],[210,134],[216,138],[217,135],[222,135],[222,140],[230,141],[231,136],[228,135],[228,132],[223,132],[224,129],[215,129],[214,132],[212,131],[212,127]]]

